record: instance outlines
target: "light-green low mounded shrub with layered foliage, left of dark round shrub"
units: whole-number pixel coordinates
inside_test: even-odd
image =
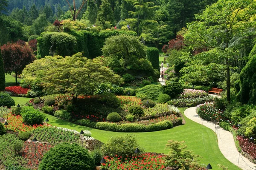
[[[144,99],[151,99],[157,101],[158,96],[161,94],[161,86],[159,85],[146,85],[138,90],[136,96]]]

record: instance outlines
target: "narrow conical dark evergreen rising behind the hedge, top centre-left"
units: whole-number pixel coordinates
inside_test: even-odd
[[[109,26],[114,24],[114,14],[108,0],[102,0],[102,5],[99,6],[97,21],[103,25],[103,28],[109,28]]]

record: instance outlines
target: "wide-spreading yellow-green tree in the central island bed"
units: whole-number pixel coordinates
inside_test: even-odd
[[[99,58],[87,59],[81,52],[72,57],[48,56],[35,60],[26,66],[22,75],[28,85],[38,81],[47,94],[73,94],[74,102],[79,94],[93,94],[100,83],[122,82]]]

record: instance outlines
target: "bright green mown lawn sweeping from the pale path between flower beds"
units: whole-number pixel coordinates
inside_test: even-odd
[[[183,108],[180,109],[183,112]],[[188,150],[192,150],[195,154],[201,156],[202,164],[211,164],[213,169],[217,170],[217,164],[222,164],[231,170],[240,170],[239,167],[228,161],[218,148],[217,136],[214,131],[209,128],[193,122],[185,117],[186,124],[174,127],[169,130],[161,130],[157,132],[144,132],[144,133],[118,133],[109,132],[104,130],[92,129],[76,125],[54,116],[46,114],[49,119],[49,124],[52,126],[64,127],[74,129],[77,131],[90,130],[92,137],[102,142],[108,141],[111,136],[134,134],[139,144],[145,148],[147,152],[168,153],[169,150],[165,149],[168,140],[185,141]]]

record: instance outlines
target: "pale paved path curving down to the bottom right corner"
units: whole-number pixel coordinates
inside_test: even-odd
[[[197,122],[201,125],[204,125],[218,135],[218,146],[221,150],[221,153],[233,164],[238,165],[242,170],[256,170],[256,164],[253,164],[244,156],[241,156],[238,150],[236,149],[236,145],[233,139],[232,133],[227,130],[224,130],[219,125],[215,124],[206,120],[201,119],[196,113],[196,107],[188,108],[184,112],[187,118],[191,119],[194,122]],[[240,156],[239,156],[240,155]]]

